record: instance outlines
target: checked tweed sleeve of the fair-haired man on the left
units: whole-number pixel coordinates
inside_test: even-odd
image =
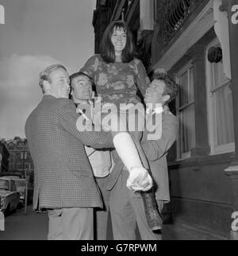
[[[70,134],[79,139],[84,145],[94,148],[111,148],[113,147],[113,136],[110,132],[105,131],[79,131],[77,129],[77,120],[79,114],[70,99],[60,99],[58,106],[59,125],[67,130]],[[83,129],[82,129],[83,130]]]

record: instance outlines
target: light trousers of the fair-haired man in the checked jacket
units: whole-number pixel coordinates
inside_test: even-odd
[[[93,240],[93,208],[48,210],[48,240]]]

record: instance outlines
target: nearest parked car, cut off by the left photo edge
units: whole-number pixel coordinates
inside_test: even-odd
[[[17,209],[20,203],[20,192],[17,192],[15,181],[0,177],[0,211],[9,213]]]

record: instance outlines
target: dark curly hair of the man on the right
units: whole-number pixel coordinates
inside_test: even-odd
[[[165,83],[163,95],[170,95],[167,103],[170,103],[178,95],[178,83],[172,80],[170,76],[165,73],[155,73],[153,80],[162,80]]]

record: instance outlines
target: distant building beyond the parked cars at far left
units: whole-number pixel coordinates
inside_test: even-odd
[[[28,142],[19,137],[6,142],[10,152],[9,172],[22,173],[25,176],[25,170],[33,172],[33,160],[29,153]]]

